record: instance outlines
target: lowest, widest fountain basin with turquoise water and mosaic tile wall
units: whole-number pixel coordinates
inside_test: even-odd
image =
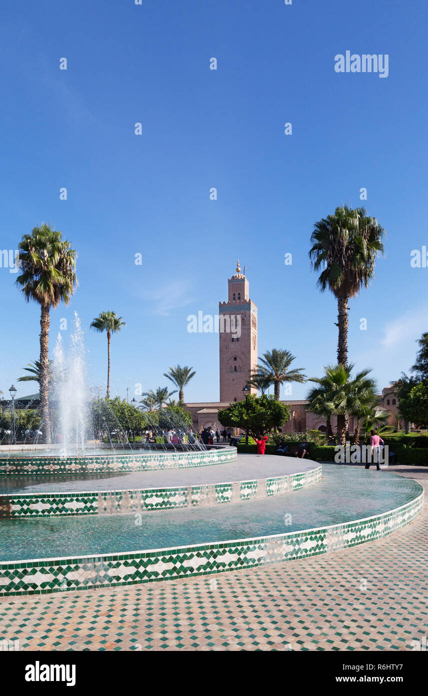
[[[417,482],[323,465],[293,496],[227,507],[3,520],[0,595],[117,587],[340,551],[390,535],[423,505]],[[286,521],[287,520],[287,521]]]

